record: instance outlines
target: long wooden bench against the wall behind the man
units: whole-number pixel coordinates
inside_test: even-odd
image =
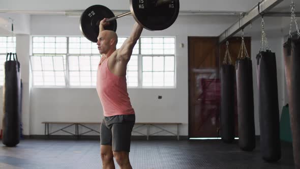
[[[90,127],[87,127],[86,125],[88,125],[88,124],[96,124],[96,125],[100,125],[101,122],[42,122],[42,124],[45,124],[45,135],[47,135],[48,137],[49,137],[51,134],[54,134],[54,133],[56,133],[56,132],[58,132],[58,131],[64,131],[64,132],[66,132],[66,133],[69,133],[69,134],[71,134],[71,135],[77,136],[77,138],[79,138],[81,135],[86,134],[86,133],[89,133],[89,132],[92,132],[92,131],[95,131],[95,132],[97,132],[97,133],[100,134],[100,131],[97,131],[97,130],[95,130],[95,129],[92,129],[92,128],[90,128]],[[60,128],[60,129],[58,129],[58,130],[52,131],[52,132],[49,133],[49,124],[63,124],[63,125],[67,125],[67,126],[65,126],[65,127],[63,127],[63,128]],[[154,134],[157,134],[157,133],[166,131],[166,132],[168,132],[168,133],[170,133],[170,134],[172,134],[172,135],[177,136],[177,140],[179,140],[179,125],[181,125],[181,124],[182,124],[182,123],[141,123],[141,122],[137,122],[137,123],[135,123],[135,125],[137,125],[137,126],[135,126],[135,127],[132,129],[132,131],[133,131],[133,132],[136,132],[136,133],[139,133],[139,134],[141,134],[141,135],[146,136],[146,137],[147,137],[147,140],[149,139],[149,136],[150,136],[150,135],[154,135]],[[171,131],[169,131],[169,130],[167,130],[167,129],[165,129],[165,128],[160,127],[159,125],[176,125],[176,126],[177,126],[177,132],[176,132],[176,133],[173,133],[173,132],[171,132]],[[66,131],[66,130],[65,130],[66,128],[71,127],[71,126],[74,126],[74,127],[75,127],[75,133],[72,133],[72,132],[69,132],[69,131]],[[78,130],[78,127],[79,127],[79,126],[82,126],[82,127],[84,127],[84,128],[87,128],[87,129],[89,129],[89,130],[86,131],[86,132],[83,132],[83,133],[79,133],[79,130]],[[142,133],[142,132],[140,132],[140,131],[136,131],[137,128],[140,128],[140,127],[143,127],[143,126],[147,127],[146,133]],[[150,133],[150,127],[151,127],[151,126],[160,129],[160,131],[156,131],[156,132],[154,132],[154,133]]]

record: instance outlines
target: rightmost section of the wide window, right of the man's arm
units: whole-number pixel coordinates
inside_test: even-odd
[[[141,38],[142,86],[175,87],[175,38]]]

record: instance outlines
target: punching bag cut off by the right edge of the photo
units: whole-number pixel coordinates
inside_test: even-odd
[[[283,48],[293,155],[295,168],[300,168],[300,39],[289,38]]]

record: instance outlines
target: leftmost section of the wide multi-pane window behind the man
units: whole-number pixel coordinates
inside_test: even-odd
[[[33,37],[33,86],[66,86],[67,37]]]

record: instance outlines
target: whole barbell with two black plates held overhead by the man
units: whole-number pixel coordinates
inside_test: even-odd
[[[103,5],[88,7],[80,16],[80,31],[90,41],[97,42],[99,24],[103,18],[110,22],[105,30],[116,31],[116,19],[132,15],[136,22],[149,31],[160,31],[170,27],[177,19],[179,0],[130,0],[130,11],[114,16]]]

